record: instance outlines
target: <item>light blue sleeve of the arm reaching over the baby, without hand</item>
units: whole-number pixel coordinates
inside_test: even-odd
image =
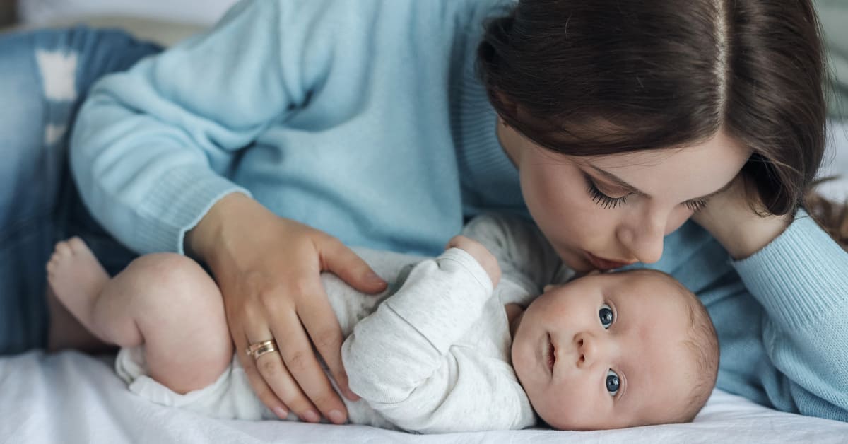
[[[304,107],[331,65],[360,72],[368,63],[357,55],[371,44],[365,22],[379,5],[330,3],[238,3],[214,30],[98,81],[70,153],[98,221],[139,252],[182,251],[217,200],[248,193],[228,178],[240,151]],[[348,16],[358,19],[340,27]]]

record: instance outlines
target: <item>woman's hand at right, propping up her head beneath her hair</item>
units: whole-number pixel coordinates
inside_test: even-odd
[[[728,189],[713,196],[704,209],[692,216],[736,260],[762,250],[789,227],[794,216],[756,214],[754,208],[762,208],[762,204],[753,185],[746,186],[746,180],[739,174]]]

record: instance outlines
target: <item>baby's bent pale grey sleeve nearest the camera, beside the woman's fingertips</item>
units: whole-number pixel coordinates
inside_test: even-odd
[[[464,250],[421,261],[398,292],[357,323],[344,341],[350,389],[405,430],[531,424],[527,412],[532,410],[521,401],[509,364],[455,346],[481,317],[491,294],[488,274]],[[486,396],[497,402],[496,413],[480,408],[488,405]]]

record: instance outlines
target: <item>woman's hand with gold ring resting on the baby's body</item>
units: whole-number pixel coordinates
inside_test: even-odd
[[[238,359],[259,399],[281,418],[290,409],[310,422],[321,414],[345,422],[347,409],[312,348],[344,396],[359,399],[348,387],[342,331],[320,273],[366,293],[385,289],[382,278],[338,239],[276,216],[244,194],[217,202],[186,244],[215,274]],[[277,352],[254,360],[246,349],[264,340],[276,340]]]

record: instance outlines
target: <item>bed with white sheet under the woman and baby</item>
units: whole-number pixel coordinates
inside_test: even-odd
[[[51,23],[56,23],[57,19],[77,20],[55,8],[62,4],[72,6],[72,3],[80,3],[79,0],[64,3],[31,0],[30,7],[21,8],[20,12],[29,14],[30,24],[43,25],[47,19],[39,20],[38,14],[50,11],[51,3]],[[114,8],[115,3],[129,1],[100,3],[111,4]],[[156,0],[152,3],[181,2]],[[219,8],[232,0],[212,3]],[[41,11],[38,5],[43,8]],[[105,13],[116,11],[106,10]],[[204,21],[197,20],[189,26],[146,19],[116,21],[100,17],[87,20],[92,25],[120,25],[141,37],[155,37],[166,44],[196,31]],[[840,174],[848,176],[848,124],[833,121],[823,175]],[[832,200],[848,199],[848,177],[824,184],[821,191]],[[161,407],[131,394],[115,376],[113,360],[110,356],[91,357],[75,351],[57,354],[31,351],[0,358],[0,443],[848,442],[848,424],[777,412],[719,390],[713,392],[704,410],[691,424],[593,432],[533,429],[420,436],[358,425],[216,420]]]

